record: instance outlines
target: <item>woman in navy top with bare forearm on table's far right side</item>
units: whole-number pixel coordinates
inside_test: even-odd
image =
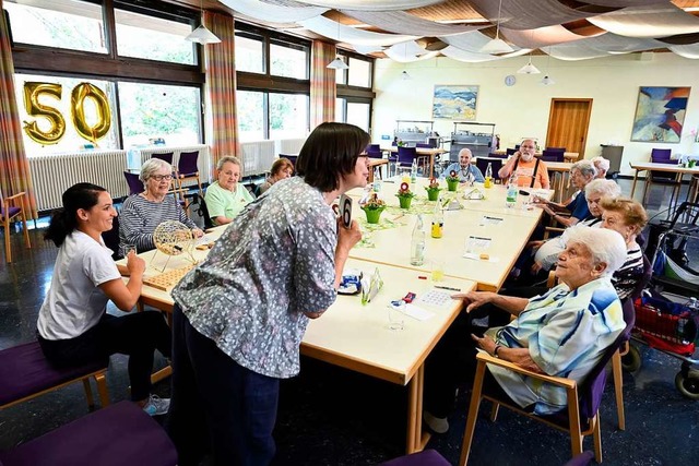
[[[580,160],[570,167],[570,182],[578,189],[570,200],[558,204],[542,198],[534,198],[534,205],[542,207],[553,219],[564,227],[571,227],[590,215],[584,196],[580,195],[588,183],[595,179],[597,169],[590,160]],[[570,214],[569,217],[560,214]]]

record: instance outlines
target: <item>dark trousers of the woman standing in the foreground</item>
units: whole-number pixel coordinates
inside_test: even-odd
[[[173,394],[166,430],[180,466],[264,466],[276,451],[280,380],[244,368],[173,311]]]

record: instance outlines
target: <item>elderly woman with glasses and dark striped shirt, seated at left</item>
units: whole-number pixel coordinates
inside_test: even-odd
[[[151,158],[141,167],[139,179],[144,191],[130,195],[119,212],[119,246],[135,244],[139,252],[155,248],[153,231],[166,220],[177,220],[192,230],[196,238],[204,232],[197,227],[177,199],[167,195],[173,180],[173,166],[158,158]]]

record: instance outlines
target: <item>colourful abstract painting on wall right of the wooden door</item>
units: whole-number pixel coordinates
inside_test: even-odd
[[[691,87],[644,87],[638,92],[631,141],[677,143]]]

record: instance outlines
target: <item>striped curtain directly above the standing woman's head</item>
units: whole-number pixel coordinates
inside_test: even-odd
[[[310,129],[335,121],[335,70],[325,68],[335,58],[335,46],[313,40],[310,67]]]

